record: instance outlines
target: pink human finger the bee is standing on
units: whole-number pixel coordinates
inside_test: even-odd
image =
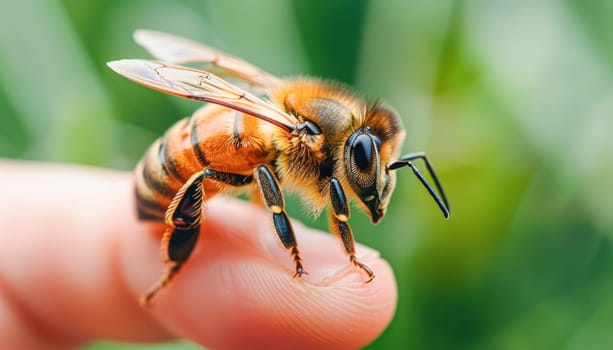
[[[358,348],[396,307],[376,251],[357,246],[377,274],[366,284],[335,237],[294,223],[309,275],[293,278],[270,215],[218,196],[190,261],[141,308],[163,272],[164,226],[136,220],[130,174],[0,161],[0,200],[2,349],[175,338],[212,349]]]

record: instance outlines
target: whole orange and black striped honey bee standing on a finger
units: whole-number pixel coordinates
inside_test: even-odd
[[[134,39],[156,60],[111,61],[111,69],[146,87],[207,103],[171,126],[136,166],[139,219],[166,224],[161,243],[166,270],[143,304],[188,260],[205,199],[229,189],[251,188],[255,200],[268,208],[279,240],[293,257],[294,277],[306,271],[282,186],[301,193],[316,214],[329,206],[330,229],[367,282],[375,273],[356,258],[348,222],[351,201],[377,223],[394,191],[395,170],[408,167],[449,217],[449,202],[426,154],[398,158],[405,132],[390,107],[338,83],[280,79],[174,35],[138,30]],[[194,63],[203,68],[185,66]],[[436,191],[415,160],[425,163]]]

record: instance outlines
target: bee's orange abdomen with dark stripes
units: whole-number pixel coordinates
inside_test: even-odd
[[[191,175],[204,168],[249,175],[275,155],[267,124],[225,107],[207,105],[182,119],[147,150],[136,167],[136,205],[140,219],[161,220]],[[203,182],[205,197],[227,186]]]

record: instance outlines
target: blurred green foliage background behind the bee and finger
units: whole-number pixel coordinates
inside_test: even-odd
[[[145,56],[136,28],[342,80],[398,110],[405,151],[428,153],[453,206],[445,222],[407,170],[380,225],[352,217],[399,284],[371,347],[608,349],[612,4],[14,1],[0,12],[0,156],[130,169],[193,111],[107,69]]]

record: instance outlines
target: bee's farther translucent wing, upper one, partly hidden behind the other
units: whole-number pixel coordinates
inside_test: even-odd
[[[139,29],[134,40],[158,60],[183,64],[203,62],[220,76],[239,78],[252,86],[266,87],[279,83],[275,76],[258,67],[195,41],[172,34]]]

